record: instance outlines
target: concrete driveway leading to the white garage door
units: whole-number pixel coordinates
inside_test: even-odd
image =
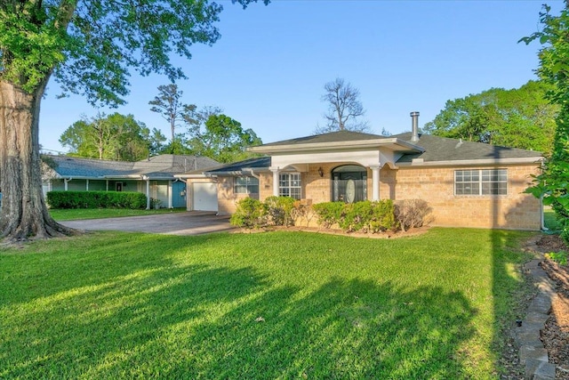
[[[171,235],[199,235],[235,228],[229,224],[229,216],[217,216],[214,213],[206,212],[126,216],[60,223],[77,230],[124,230]]]

